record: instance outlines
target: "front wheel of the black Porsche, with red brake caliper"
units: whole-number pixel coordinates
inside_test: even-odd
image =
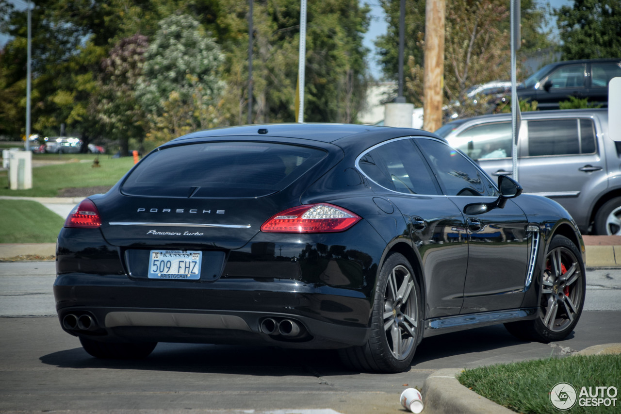
[[[567,237],[556,235],[546,255],[540,276],[541,295],[537,318],[505,323],[517,338],[549,343],[568,336],[584,306],[586,278],[578,247]]]

